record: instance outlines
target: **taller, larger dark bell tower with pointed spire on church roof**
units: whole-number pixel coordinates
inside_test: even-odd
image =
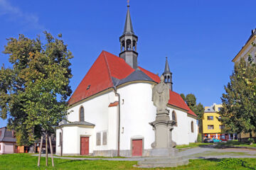
[[[133,69],[137,69],[138,67],[138,53],[137,53],[137,41],[138,37],[134,34],[134,30],[132,28],[132,20],[129,13],[129,4],[127,5],[127,17],[124,25],[124,32],[119,38],[120,41],[120,53],[119,57],[124,59],[127,64]]]

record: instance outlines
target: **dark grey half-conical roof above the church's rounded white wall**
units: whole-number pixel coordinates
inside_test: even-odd
[[[153,79],[151,79],[148,75],[146,75],[144,72],[142,72],[142,70],[140,70],[139,68],[135,69],[134,72],[132,72],[131,74],[129,74],[129,76],[127,76],[124,79],[120,79],[119,81],[117,81],[118,79],[112,77],[113,84],[114,86],[119,86],[121,84],[127,83],[129,81],[138,81],[138,80],[142,80],[142,81],[154,81]]]

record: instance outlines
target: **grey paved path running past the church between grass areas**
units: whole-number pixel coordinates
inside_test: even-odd
[[[38,156],[38,154],[33,154]],[[46,154],[41,154],[45,157]],[[256,150],[253,149],[238,149],[238,148],[226,148],[215,149],[213,147],[194,147],[191,149],[185,149],[178,152],[178,156],[185,157],[187,159],[209,159],[209,158],[256,158]],[[54,157],[60,159],[74,159],[74,160],[108,160],[108,161],[144,161],[146,157],[131,157],[131,158],[82,158],[82,157]]]

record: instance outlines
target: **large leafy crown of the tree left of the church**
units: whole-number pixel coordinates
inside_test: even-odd
[[[61,40],[44,32],[46,43],[19,35],[9,38],[4,54],[12,67],[0,69],[0,116],[16,130],[18,145],[29,145],[42,132],[53,131],[70,96],[72,53]]]

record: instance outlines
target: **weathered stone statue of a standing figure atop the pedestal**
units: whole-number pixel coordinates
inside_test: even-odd
[[[164,76],[161,75],[161,81],[156,84],[152,90],[152,101],[156,106],[156,112],[166,111],[166,105],[169,101],[169,86],[164,83]]]

